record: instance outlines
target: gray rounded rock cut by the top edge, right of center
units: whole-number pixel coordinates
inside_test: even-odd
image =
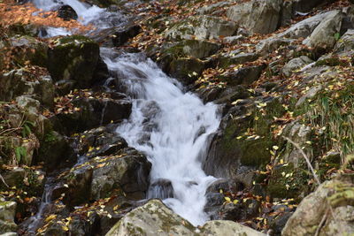
[[[281,1],[262,0],[236,4],[227,10],[227,17],[252,33],[268,34],[278,27]]]

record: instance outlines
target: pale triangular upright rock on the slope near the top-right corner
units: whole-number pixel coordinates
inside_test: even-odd
[[[331,11],[303,43],[315,49],[333,49],[336,42],[335,34],[339,34],[341,26],[342,12]]]

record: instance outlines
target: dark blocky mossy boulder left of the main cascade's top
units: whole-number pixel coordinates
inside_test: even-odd
[[[48,51],[48,71],[54,81],[73,80],[76,88],[87,88],[104,79],[96,76],[102,71],[106,71],[105,74],[108,72],[106,66],[98,66],[102,59],[96,42],[81,35],[73,35],[59,38],[53,43]]]

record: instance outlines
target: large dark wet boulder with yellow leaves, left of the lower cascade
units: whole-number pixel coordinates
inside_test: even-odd
[[[151,164],[133,148],[121,149],[109,156],[95,156],[63,174],[55,198],[65,194],[64,202],[76,206],[109,197],[112,194],[142,200],[149,187]]]

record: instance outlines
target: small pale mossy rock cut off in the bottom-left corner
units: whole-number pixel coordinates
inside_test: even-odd
[[[0,202],[0,233],[15,232],[16,202]]]

